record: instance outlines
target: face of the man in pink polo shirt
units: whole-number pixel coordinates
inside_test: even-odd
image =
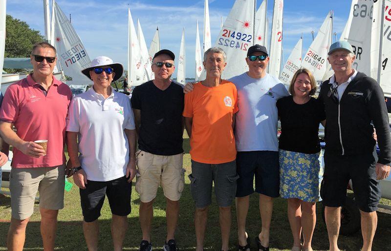
[[[56,57],[54,50],[49,47],[37,47],[32,54],[43,57]],[[42,62],[37,62],[35,61],[34,56],[30,55],[30,62],[33,65],[34,74],[47,77],[53,73],[54,66],[57,63],[57,58],[53,63],[47,63],[45,59]]]

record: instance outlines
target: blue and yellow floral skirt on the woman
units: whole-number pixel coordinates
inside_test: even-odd
[[[280,149],[280,194],[305,202],[319,200],[319,152],[306,154]]]

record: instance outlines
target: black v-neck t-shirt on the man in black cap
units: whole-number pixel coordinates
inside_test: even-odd
[[[164,91],[152,81],[136,86],[131,106],[141,110],[139,149],[157,155],[175,155],[182,149],[183,88],[172,82]]]

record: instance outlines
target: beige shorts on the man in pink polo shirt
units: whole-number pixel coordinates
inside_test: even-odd
[[[24,220],[34,211],[34,200],[40,192],[40,207],[58,210],[64,208],[65,166],[11,168],[12,218]]]

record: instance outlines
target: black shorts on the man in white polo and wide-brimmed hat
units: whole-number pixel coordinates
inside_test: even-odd
[[[125,176],[110,181],[87,180],[86,189],[80,189],[85,222],[93,222],[99,218],[106,195],[112,214],[119,216],[130,214],[131,183]]]

